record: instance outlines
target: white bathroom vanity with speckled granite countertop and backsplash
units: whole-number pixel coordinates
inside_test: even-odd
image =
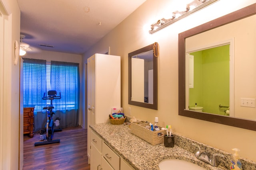
[[[100,123],[90,125],[90,130],[92,132],[91,134],[95,135],[91,136],[91,153],[94,152],[92,150],[95,150],[94,147],[96,147],[96,145],[102,147],[102,149],[96,150],[99,151],[98,157],[101,158],[100,164],[104,166],[105,163],[108,163],[111,165],[110,169],[112,168],[115,170],[159,170],[159,162],[165,159],[186,160],[202,166],[206,170],[227,170],[232,156],[228,152],[215,149],[175,133],[175,146],[173,148],[166,148],[163,143],[159,145],[151,145],[143,139],[133,135],[131,129],[126,125]],[[97,144],[95,144],[93,139],[97,140]],[[208,152],[223,154],[225,158],[218,158],[219,166],[217,167],[206,164],[194,156],[197,148],[194,147],[192,143],[199,145]],[[107,150],[107,152],[104,150]],[[115,156],[110,156],[110,153]],[[109,163],[106,154],[108,154],[108,157],[112,157],[112,159],[117,157],[114,164],[119,164],[119,166],[117,165],[115,168]],[[256,170],[256,162],[242,158],[242,164],[244,169]],[[126,166],[126,168],[122,168],[122,166]]]

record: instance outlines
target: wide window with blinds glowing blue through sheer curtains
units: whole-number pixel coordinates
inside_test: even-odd
[[[55,110],[78,109],[78,70],[77,63],[24,59],[24,105],[35,105],[35,112],[42,111],[50,104],[50,100],[42,100],[44,93],[56,90],[61,99],[52,101]]]

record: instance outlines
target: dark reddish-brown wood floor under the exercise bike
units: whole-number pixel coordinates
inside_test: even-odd
[[[60,143],[34,146],[39,134],[33,138],[24,135],[23,170],[90,170],[87,157],[87,129],[82,127],[54,132],[53,139]]]

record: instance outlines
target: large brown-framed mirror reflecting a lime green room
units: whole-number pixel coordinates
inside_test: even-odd
[[[255,14],[252,4],[179,34],[179,115],[256,131]]]

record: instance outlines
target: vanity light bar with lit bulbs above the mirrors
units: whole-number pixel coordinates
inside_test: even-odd
[[[149,33],[156,33],[157,31],[160,31],[161,29],[171,25],[172,23],[181,20],[182,18],[185,18],[190,14],[193,14],[194,12],[197,12],[198,10],[201,10],[202,8],[205,8],[217,1],[218,0],[194,0],[190,4],[187,4],[185,11],[173,12],[172,16],[170,16],[169,19],[162,18],[161,20],[156,21],[156,23],[153,23],[151,25],[151,30],[149,31]],[[191,6],[194,6],[195,8],[191,9]]]

